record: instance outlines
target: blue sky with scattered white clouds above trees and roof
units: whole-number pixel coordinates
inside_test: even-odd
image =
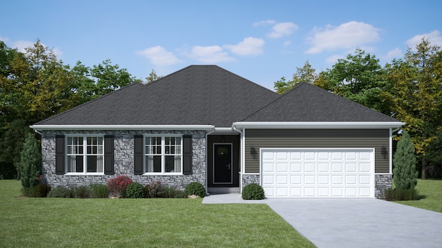
[[[442,46],[442,1],[5,1],[0,40],[37,39],[71,66],[111,59],[138,79],[219,65],[273,90],[361,48],[381,65],[425,36]],[[23,50],[24,51],[24,50]]]

